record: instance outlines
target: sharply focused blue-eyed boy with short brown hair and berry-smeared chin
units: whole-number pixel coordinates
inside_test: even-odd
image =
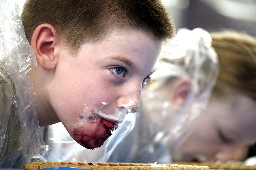
[[[76,142],[88,149],[100,147],[127,113],[139,109],[141,90],[162,44],[175,33],[169,13],[156,0],[28,0],[21,18],[37,59],[37,67],[28,69],[28,78],[29,89],[36,93],[32,98],[39,125],[62,122]],[[9,119],[30,116],[26,111],[22,116],[18,113],[23,110],[10,110],[14,116]],[[40,136],[23,137],[24,125],[20,132],[15,130],[17,135],[12,129],[6,132],[19,136],[18,146]],[[17,153],[19,147],[3,139],[4,148],[12,149],[1,152],[0,165],[4,160],[22,165],[37,153],[31,152],[33,147]],[[6,161],[4,166],[9,166]]]

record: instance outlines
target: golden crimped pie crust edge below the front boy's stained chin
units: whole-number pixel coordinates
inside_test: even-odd
[[[154,167],[151,164],[138,163],[100,163],[93,162],[97,166],[89,165],[89,163],[80,162],[30,162],[23,165],[24,170],[37,170],[49,167],[75,167],[92,170],[209,170],[208,166],[184,165],[184,166],[170,166],[170,167]],[[160,164],[161,165],[161,164]],[[168,166],[168,164],[165,164]]]

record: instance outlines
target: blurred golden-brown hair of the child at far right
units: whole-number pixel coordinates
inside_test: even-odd
[[[236,31],[211,33],[211,37],[220,61],[213,94],[223,94],[227,86],[256,99],[256,39]]]

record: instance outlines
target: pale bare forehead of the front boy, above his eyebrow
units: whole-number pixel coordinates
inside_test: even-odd
[[[95,42],[86,42],[85,46],[93,46],[99,55],[122,55],[128,58],[158,58],[162,43],[152,34],[135,29],[113,30],[107,37]],[[93,48],[91,48],[93,50]],[[100,51],[99,49],[100,48]],[[83,49],[83,46],[82,48]],[[101,54],[100,54],[101,53]]]

